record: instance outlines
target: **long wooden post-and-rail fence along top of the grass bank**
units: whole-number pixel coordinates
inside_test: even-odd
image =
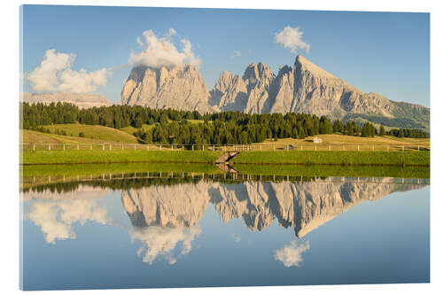
[[[22,151],[430,151],[430,144],[20,144]]]

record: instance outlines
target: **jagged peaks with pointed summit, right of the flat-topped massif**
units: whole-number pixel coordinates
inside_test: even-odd
[[[376,123],[385,118],[392,125],[429,128],[429,108],[364,93],[302,56],[294,67],[281,66],[277,75],[261,63],[248,66],[242,78],[223,72],[211,93],[210,104],[221,111],[315,113]]]

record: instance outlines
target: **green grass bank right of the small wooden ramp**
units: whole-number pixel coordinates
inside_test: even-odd
[[[243,151],[235,164],[430,166],[429,151]]]

